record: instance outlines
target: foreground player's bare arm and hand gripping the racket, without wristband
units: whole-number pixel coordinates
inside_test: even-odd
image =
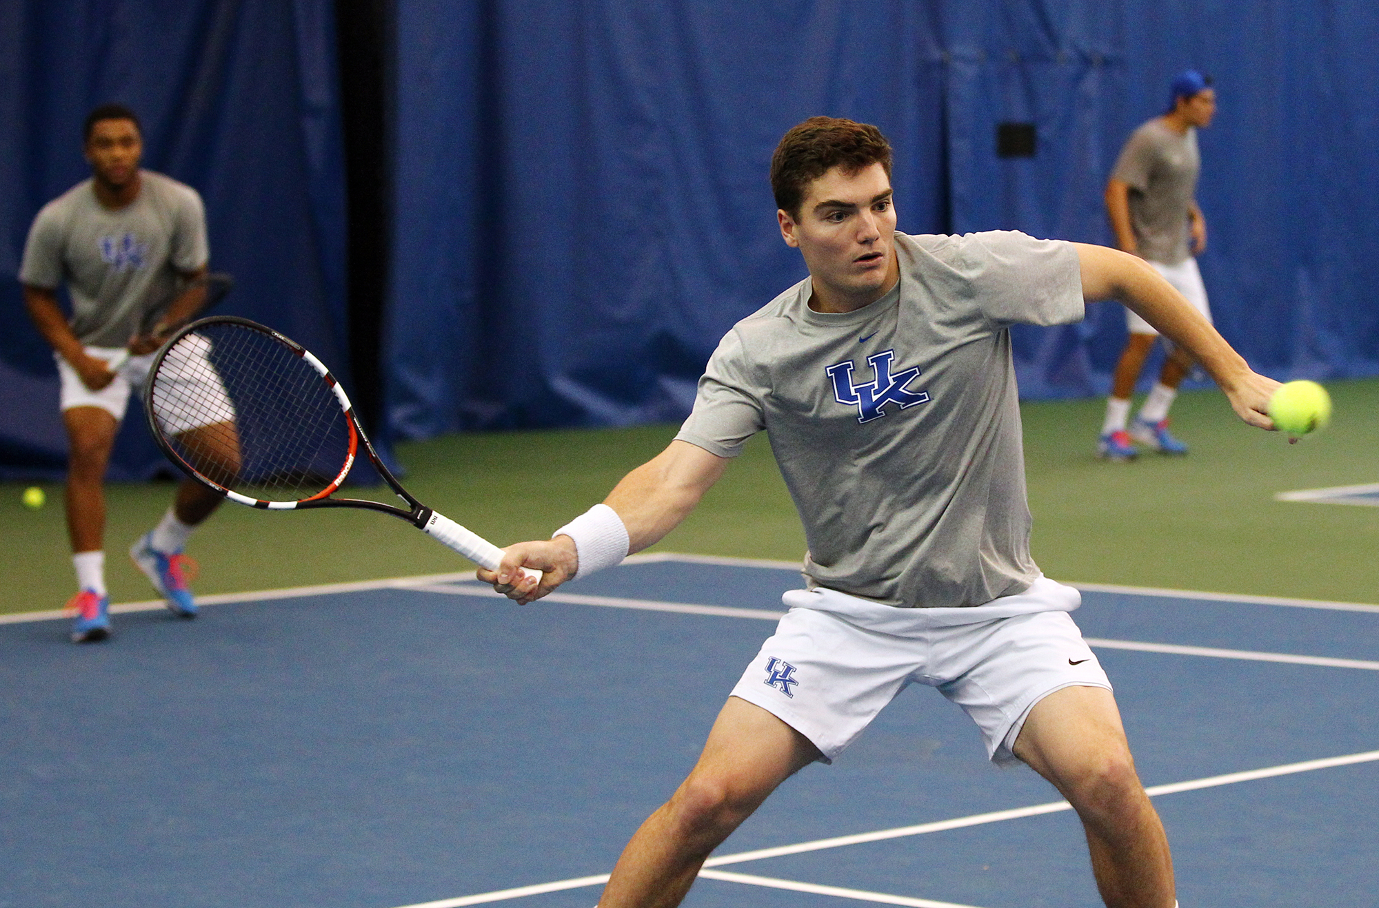
[[[627,553],[655,544],[678,526],[727,467],[727,457],[685,441],[672,441],[659,455],[625,475],[604,504],[627,528]],[[543,572],[541,586],[534,588],[530,580],[519,580],[519,566]],[[517,602],[531,602],[575,576],[578,569],[575,541],[561,535],[509,546],[498,570],[480,568],[479,579]]]

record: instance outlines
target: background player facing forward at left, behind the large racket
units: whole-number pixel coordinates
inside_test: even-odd
[[[91,178],[52,200],[34,218],[23,248],[19,280],[39,332],[52,344],[62,379],[62,422],[68,431],[66,515],[77,573],[72,638],[99,641],[110,632],[105,588],[105,470],[130,394],[157,350],[161,324],[193,314],[204,289],[205,215],[190,186],[139,169],[143,141],[134,112],[120,105],[92,110],[84,150]],[[58,305],[66,284],[72,321]],[[179,287],[186,287],[178,292]],[[149,333],[145,317],[163,310]],[[108,368],[124,350],[132,358]],[[167,599],[193,617],[182,547],[192,528],[221,496],[183,479],[174,506],[130,550],[138,568]]]

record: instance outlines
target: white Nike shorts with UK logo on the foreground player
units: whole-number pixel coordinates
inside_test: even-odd
[[[790,610],[732,696],[804,734],[833,762],[912,683],[938,688],[982,729],[993,762],[1034,704],[1063,688],[1111,689],[1067,613],[1081,594],[1040,577],[961,609],[898,609],[836,590],[792,590]]]

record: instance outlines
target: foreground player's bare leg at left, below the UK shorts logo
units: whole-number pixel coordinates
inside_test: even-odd
[[[690,777],[623,849],[598,908],[678,905],[713,849],[818,756],[776,716],[728,697]]]

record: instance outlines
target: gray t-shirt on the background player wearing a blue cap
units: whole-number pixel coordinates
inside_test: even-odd
[[[1151,262],[1178,265],[1187,249],[1187,211],[1197,194],[1201,171],[1197,130],[1178,135],[1154,117],[1131,134],[1116,161],[1111,178],[1127,183],[1129,222],[1139,255]]]

